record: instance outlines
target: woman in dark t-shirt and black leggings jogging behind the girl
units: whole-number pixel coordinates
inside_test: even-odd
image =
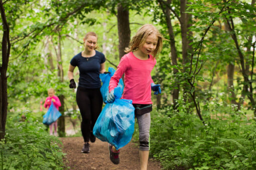
[[[79,69],[79,82],[76,91],[76,102],[82,116],[81,131],[84,139],[83,153],[89,153],[89,139],[95,141],[92,133],[93,126],[101,112],[103,99],[100,93],[100,73],[105,72],[105,56],[95,50],[97,48],[97,35],[88,32],[83,38],[84,50],[76,54],[70,61],[68,78],[70,88],[76,88],[73,71],[77,66]]]

